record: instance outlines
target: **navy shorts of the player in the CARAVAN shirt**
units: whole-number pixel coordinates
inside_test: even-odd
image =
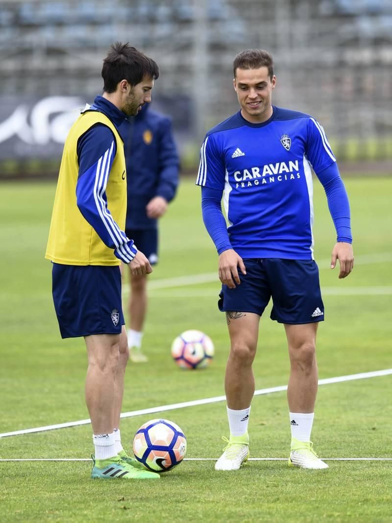
[[[222,286],[221,311],[254,312],[262,315],[270,298],[271,320],[302,324],[324,320],[318,267],[314,260],[281,258],[244,259],[246,275],[240,285]]]

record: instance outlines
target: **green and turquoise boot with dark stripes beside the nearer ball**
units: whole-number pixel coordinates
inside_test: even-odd
[[[148,470],[135,469],[129,463],[122,460],[120,456],[114,456],[109,459],[95,460],[93,456],[94,467],[91,471],[91,477],[97,477],[107,480],[125,479],[125,480],[157,480],[159,474]]]

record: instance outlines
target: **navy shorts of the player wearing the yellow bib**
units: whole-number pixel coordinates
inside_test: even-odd
[[[119,266],[54,263],[52,292],[62,338],[121,333]]]

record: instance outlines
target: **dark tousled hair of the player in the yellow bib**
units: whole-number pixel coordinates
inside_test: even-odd
[[[128,80],[134,86],[143,78],[159,76],[159,67],[153,59],[131,47],[129,43],[116,42],[110,46],[102,66],[103,90],[114,93],[121,80]]]

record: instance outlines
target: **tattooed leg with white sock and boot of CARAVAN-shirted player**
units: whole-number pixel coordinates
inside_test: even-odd
[[[248,421],[250,402],[255,393],[252,363],[255,359],[260,316],[226,312],[230,335],[230,354],[226,366],[225,391],[230,439],[216,470],[238,470],[249,457]]]

